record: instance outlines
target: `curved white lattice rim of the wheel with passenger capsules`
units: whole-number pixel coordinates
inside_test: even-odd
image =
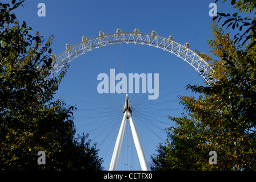
[[[66,44],[66,51],[62,52],[57,57],[55,55],[51,55],[51,58],[54,61],[53,69],[51,69],[51,77],[54,77],[59,71],[61,71],[61,69],[65,67],[66,64],[70,63],[70,61],[88,51],[93,51],[93,49],[96,48],[120,43],[142,44],[161,48],[163,51],[167,51],[181,57],[181,59],[189,63],[198,72],[203,71],[207,73],[207,71],[210,69],[209,64],[203,60],[202,57],[189,49],[189,43],[182,46],[181,44],[174,42],[172,36],[169,36],[168,39],[163,38],[156,35],[155,31],[153,31],[151,34],[145,34],[138,32],[138,29],[135,31],[136,28],[134,32],[121,32],[120,29],[118,30],[116,33],[112,34],[104,34],[101,31],[99,32],[99,36],[90,39],[83,36],[82,42],[75,44],[72,47],[70,44]]]

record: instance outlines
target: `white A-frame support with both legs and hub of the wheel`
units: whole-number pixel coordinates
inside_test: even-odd
[[[115,142],[115,148],[114,148],[113,156],[111,159],[109,171],[115,171],[117,169],[117,163],[118,163],[118,158],[119,158],[119,154],[120,154],[120,150],[123,142],[123,134],[125,133],[125,124],[127,122],[127,119],[129,119],[130,121],[131,133],[133,134],[133,140],[134,140],[136,151],[139,157],[139,163],[141,163],[142,171],[149,170],[149,168],[147,167],[145,155],[141,146],[141,141],[139,140],[137,129],[133,122],[133,118],[131,117],[131,113],[132,113],[132,110],[129,103],[129,97],[128,97],[128,94],[126,94],[125,105],[123,106],[123,120],[119,129],[117,141]]]

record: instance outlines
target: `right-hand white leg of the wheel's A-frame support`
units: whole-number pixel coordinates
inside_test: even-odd
[[[129,121],[130,121],[130,126],[131,126],[131,133],[133,134],[133,140],[134,140],[134,144],[135,144],[136,151],[138,154],[139,163],[141,163],[142,171],[149,171],[149,168],[147,167],[146,158],[145,158],[142,146],[141,146],[141,141],[139,140],[139,136],[137,133],[137,129],[134,125],[133,119],[130,117]]]

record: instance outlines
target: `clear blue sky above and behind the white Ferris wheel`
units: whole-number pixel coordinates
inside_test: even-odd
[[[39,10],[37,5],[41,2],[46,5],[45,17],[37,15]],[[209,16],[209,4],[211,2],[214,1],[27,0],[23,3],[24,7],[19,7],[15,14],[17,14],[20,22],[25,20],[27,26],[32,27],[33,31],[39,31],[40,35],[46,40],[50,35],[54,35],[54,42],[51,48],[55,55],[65,51],[66,43],[70,43],[73,46],[81,42],[83,35],[87,36],[87,38],[92,38],[98,36],[100,30],[107,34],[115,32],[118,27],[123,32],[131,32],[135,27],[138,27],[140,32],[150,33],[152,30],[155,30],[157,35],[166,38],[169,35],[173,35],[175,42],[180,44],[189,42],[192,51],[197,49],[209,54],[210,49],[207,39],[213,38],[210,24],[212,17]],[[230,14],[234,12],[229,3],[217,3],[217,11],[229,12]],[[131,102],[131,104],[134,104],[132,105],[134,107],[134,115],[137,114],[135,125],[137,125],[142,145],[143,147],[145,146],[147,162],[150,161],[150,155],[157,149],[158,143],[165,142],[166,134],[162,130],[167,126],[174,126],[174,123],[168,121],[166,116],[179,116],[184,112],[182,110],[183,107],[179,105],[177,95],[191,94],[190,91],[184,89],[184,86],[188,83],[192,85],[202,83],[202,77],[198,77],[198,72],[193,72],[189,65],[181,63],[183,62],[182,59],[175,56],[169,57],[169,54],[166,52],[162,54],[163,51],[155,51],[155,48],[149,49],[145,46],[131,45],[128,47],[125,45],[122,46],[122,52],[119,48],[121,46],[103,48],[93,51],[93,54],[90,53],[86,55],[87,57],[81,56],[75,59],[73,61],[74,64],[71,63],[70,65],[71,71],[68,72],[67,78],[65,78],[60,86],[56,96],[56,98],[62,97],[63,100],[66,100],[67,105],[75,104],[77,106],[78,110],[75,113],[77,133],[82,131],[88,133],[91,131],[89,133],[90,139],[98,143],[101,150],[99,156],[105,160],[103,163],[105,169],[109,169],[115,138],[117,137],[122,119],[122,105],[125,102],[125,96],[118,96],[117,94],[106,96],[110,97],[110,100],[116,104],[110,104],[111,106],[113,105],[113,108],[110,108],[105,105],[106,102],[109,102],[105,99],[105,96],[99,96],[99,94],[88,89],[85,86],[87,82],[93,85],[94,88],[97,88],[98,84],[98,72],[93,69],[94,65],[89,65],[89,60],[97,62],[98,69],[109,74],[110,70],[103,63],[102,56],[106,58],[109,55],[106,60],[113,62],[108,64],[112,64],[112,68],[118,69],[117,65],[114,64],[114,60],[117,57],[117,53],[122,53],[121,56],[123,60],[127,61],[127,67],[129,67],[126,73],[133,73],[130,69],[131,65],[128,66],[128,63],[131,63],[131,59],[134,59],[135,55],[137,57],[135,60],[146,60],[148,61],[146,63],[150,63],[146,64],[149,67],[149,72],[147,73],[156,73],[159,68],[158,72],[160,75],[161,73],[166,73],[165,66],[160,67],[161,60],[174,60],[174,65],[170,65],[170,67],[169,64],[166,65],[166,68],[172,69],[172,71],[167,74],[167,77],[159,78],[160,88],[171,81],[174,82],[167,89],[159,91],[159,97],[165,93],[169,93],[169,96],[164,97],[162,100],[159,99],[159,101],[150,102],[150,104],[146,104],[147,100],[139,100],[139,97],[134,97],[133,102]],[[138,63],[132,69],[134,72],[143,72],[143,66],[145,65]],[[83,72],[90,71],[91,78],[86,78]],[[97,97],[97,100],[94,100],[91,96]],[[104,102],[101,102],[101,99]],[[172,100],[175,101],[171,102]],[[88,103],[101,106],[97,107]],[[109,112],[109,109],[113,110]],[[133,156],[135,158],[136,155],[134,150]],[[119,170],[123,169],[124,162],[122,162],[122,158],[124,156],[121,155],[119,158],[120,164],[118,165]],[[133,165],[133,169],[139,169],[139,163],[136,159],[134,159]]]

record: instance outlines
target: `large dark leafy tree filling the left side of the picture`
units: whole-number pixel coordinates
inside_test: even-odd
[[[67,69],[50,77],[53,36],[43,43],[38,32],[31,35],[13,13],[23,1],[11,3],[0,3],[0,169],[103,169],[88,135],[75,138],[75,107],[53,101]],[[37,163],[41,150],[46,165]]]

